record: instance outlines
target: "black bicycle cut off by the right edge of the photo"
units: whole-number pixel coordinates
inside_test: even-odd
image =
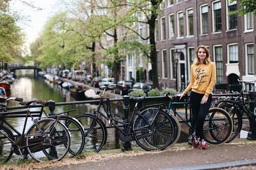
[[[253,81],[243,81],[238,80],[244,84],[246,83],[256,83],[256,80]],[[256,115],[255,115],[255,108],[253,111],[250,111],[250,106],[248,104],[248,99],[244,94],[244,88],[243,86],[242,90],[239,93],[239,96],[236,97],[236,99],[226,99],[226,100],[220,100],[218,103],[219,108],[223,108],[226,110],[230,116],[232,117],[232,120],[234,122],[234,128],[232,130],[232,136],[227,142],[231,142],[234,140],[239,132],[241,131],[243,127],[243,119],[248,118],[253,122],[253,124],[256,124]],[[245,115],[244,115],[245,114]],[[244,117],[244,116],[246,117]]]

